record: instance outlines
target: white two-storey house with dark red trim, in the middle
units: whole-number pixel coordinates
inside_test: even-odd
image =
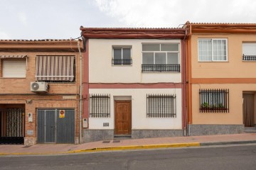
[[[183,28],[80,28],[85,142],[183,136]]]

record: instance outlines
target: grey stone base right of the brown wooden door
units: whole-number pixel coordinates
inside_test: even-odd
[[[132,138],[151,138],[151,137],[178,137],[183,136],[183,130],[132,130]]]

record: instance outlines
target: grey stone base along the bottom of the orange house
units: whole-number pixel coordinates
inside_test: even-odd
[[[238,134],[244,131],[244,125],[188,125],[190,136]]]

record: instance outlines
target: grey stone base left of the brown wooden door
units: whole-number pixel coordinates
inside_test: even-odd
[[[113,140],[114,130],[83,130],[83,142]]]

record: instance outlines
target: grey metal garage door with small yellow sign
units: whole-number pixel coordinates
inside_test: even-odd
[[[38,143],[75,143],[75,110],[38,110]]]

